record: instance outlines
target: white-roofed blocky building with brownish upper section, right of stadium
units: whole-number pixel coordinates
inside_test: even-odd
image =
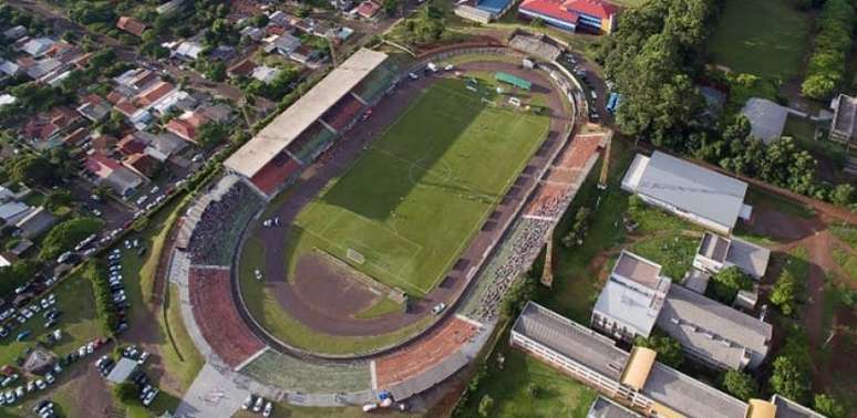
[[[591,325],[628,343],[648,337],[669,289],[659,264],[622,251],[592,309]]]

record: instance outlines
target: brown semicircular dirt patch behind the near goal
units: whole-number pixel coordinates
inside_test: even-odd
[[[320,254],[303,254],[295,267],[295,293],[311,307],[333,317],[355,315],[381,300],[381,294],[342,270]]]

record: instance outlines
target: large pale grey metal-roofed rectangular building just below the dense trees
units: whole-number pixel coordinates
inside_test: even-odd
[[[729,234],[737,218],[750,218],[747,184],[661,151],[634,156],[622,189],[650,205],[713,231]]]

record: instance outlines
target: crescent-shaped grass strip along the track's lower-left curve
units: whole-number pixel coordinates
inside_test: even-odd
[[[424,328],[434,320],[430,316],[394,333],[371,337],[320,334],[283,312],[271,289],[267,288],[264,282],[256,280],[252,271],[256,265],[261,265],[264,260],[265,248],[261,241],[248,239],[244,244],[239,271],[241,294],[254,318],[269,333],[295,347],[326,354],[365,353],[400,342]]]

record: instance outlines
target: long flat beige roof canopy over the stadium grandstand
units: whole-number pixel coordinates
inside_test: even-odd
[[[247,178],[252,177],[384,60],[386,54],[383,52],[361,49],[277,116],[224,165]]]

